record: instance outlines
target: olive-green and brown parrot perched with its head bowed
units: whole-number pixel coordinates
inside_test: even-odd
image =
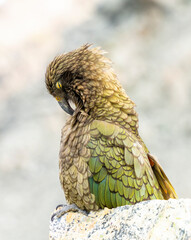
[[[177,198],[138,132],[135,103],[100,47],[85,44],[48,65],[48,92],[69,114],[61,131],[59,179],[86,211]],[[73,104],[73,106],[72,106]]]

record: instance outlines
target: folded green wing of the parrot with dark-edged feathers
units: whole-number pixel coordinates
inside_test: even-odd
[[[99,120],[92,122],[90,135],[89,185],[100,208],[164,199],[161,180],[158,182],[148,155],[135,135]],[[159,171],[157,174],[160,175]]]

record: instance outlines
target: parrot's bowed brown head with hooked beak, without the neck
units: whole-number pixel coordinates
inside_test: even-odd
[[[57,56],[46,71],[46,86],[60,106],[70,115],[74,109],[88,112],[102,94],[106,81],[115,75],[111,62],[100,48],[84,45],[72,52]],[[110,81],[111,84],[111,81]]]

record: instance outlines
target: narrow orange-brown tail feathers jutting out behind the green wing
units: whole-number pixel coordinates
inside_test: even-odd
[[[162,167],[160,166],[159,162],[150,154],[148,153],[149,161],[151,162],[151,166],[153,172],[158,180],[158,183],[161,187],[161,191],[163,194],[164,199],[168,200],[169,198],[177,199],[178,196],[170,183],[168,177],[164,173]]]

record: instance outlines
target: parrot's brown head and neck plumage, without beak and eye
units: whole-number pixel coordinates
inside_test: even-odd
[[[47,68],[47,89],[57,99],[72,100],[78,111],[83,109],[97,119],[120,121],[137,132],[135,104],[126,95],[104,53],[99,47],[90,48],[86,44],[57,56]],[[61,89],[56,88],[58,81]],[[115,114],[111,116],[112,112]]]

